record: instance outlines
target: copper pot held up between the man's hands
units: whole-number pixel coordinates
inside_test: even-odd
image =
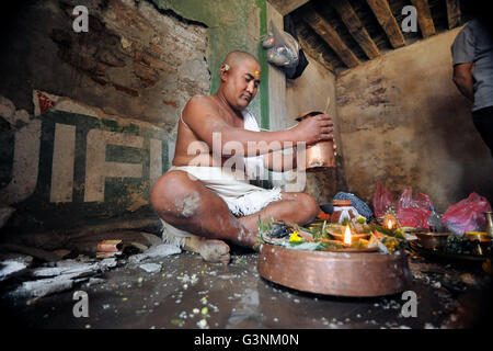
[[[300,114],[296,121],[301,122],[305,118],[313,117],[319,114],[323,114],[323,112],[308,111]],[[317,172],[330,167],[335,167],[334,143],[329,140],[307,145],[306,165],[306,170],[309,172]]]

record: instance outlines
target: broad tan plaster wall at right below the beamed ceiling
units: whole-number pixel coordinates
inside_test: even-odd
[[[450,45],[460,29],[389,53],[337,77],[337,122],[348,188],[375,183],[432,196],[439,211],[477,191],[493,201],[493,160],[471,104],[455,87]]]

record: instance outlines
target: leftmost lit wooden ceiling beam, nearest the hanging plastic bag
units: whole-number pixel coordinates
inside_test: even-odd
[[[346,44],[344,44],[337,32],[335,32],[332,25],[330,25],[330,23],[320,16],[313,9],[305,12],[303,21],[311,26],[311,29],[316,31],[330,47],[332,47],[347,67],[353,68],[359,65],[358,58]]]

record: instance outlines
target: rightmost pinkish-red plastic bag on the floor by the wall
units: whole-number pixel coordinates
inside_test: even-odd
[[[473,192],[467,199],[448,207],[442,217],[442,224],[457,235],[482,231],[486,226],[483,212],[489,211],[491,205],[488,200]]]

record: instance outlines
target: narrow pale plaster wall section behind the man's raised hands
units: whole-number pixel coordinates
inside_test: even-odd
[[[334,121],[336,145],[341,145],[340,128],[336,123],[335,76],[311,57],[307,57],[307,59],[309,65],[301,77],[287,80],[287,116],[283,121],[283,126],[295,125],[297,123],[295,118],[309,110],[323,111],[328,97],[330,97],[329,114]],[[344,166],[340,156],[336,157],[336,166],[335,169],[330,169],[326,172],[307,173],[305,191],[313,195],[319,203],[332,201],[337,191],[346,190]]]

